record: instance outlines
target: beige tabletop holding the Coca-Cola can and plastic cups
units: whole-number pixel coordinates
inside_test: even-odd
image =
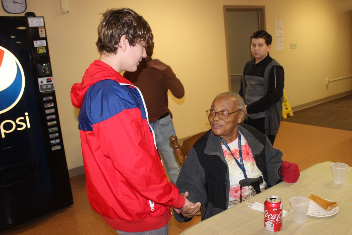
[[[294,184],[281,182],[249,200],[264,203],[266,197],[279,196],[284,209],[290,209],[292,197],[316,196],[339,203],[337,214],[327,217],[307,216],[304,224],[293,221],[293,216],[282,219],[282,230],[269,232],[264,228],[263,212],[238,204],[220,214],[184,230],[181,234],[352,234],[352,167],[348,167],[344,184],[335,184],[332,162],[322,162],[300,173]]]

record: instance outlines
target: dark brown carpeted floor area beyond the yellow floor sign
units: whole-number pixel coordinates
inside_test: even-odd
[[[352,94],[293,113],[285,122],[352,131]]]

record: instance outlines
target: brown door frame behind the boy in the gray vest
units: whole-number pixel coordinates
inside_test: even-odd
[[[260,30],[266,30],[265,23],[265,6],[232,6],[232,5],[224,5],[224,22],[225,22],[225,41],[226,41],[226,59],[227,59],[227,79],[228,79],[228,91],[231,91],[231,76],[230,76],[230,55],[228,53],[228,33],[227,33],[227,19],[226,12],[227,11],[253,11],[257,10],[259,12],[259,27]]]

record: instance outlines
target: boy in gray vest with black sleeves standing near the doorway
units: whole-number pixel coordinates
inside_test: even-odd
[[[249,124],[274,144],[282,116],[284,69],[270,57],[272,37],[259,30],[251,36],[254,59],[244,66],[239,94],[246,104]]]

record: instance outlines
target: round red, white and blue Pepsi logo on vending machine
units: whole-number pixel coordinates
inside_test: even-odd
[[[0,114],[12,109],[21,99],[25,77],[18,59],[0,47]]]

